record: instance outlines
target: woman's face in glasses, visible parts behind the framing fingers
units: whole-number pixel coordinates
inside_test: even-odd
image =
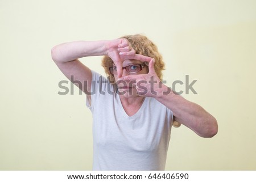
[[[138,65],[141,65],[141,64],[143,64],[143,62],[138,61],[138,60],[125,60],[125,61],[123,61],[123,67],[129,66],[129,67],[127,67],[127,69],[131,73],[129,73],[129,71],[127,71],[126,69],[123,69],[122,77],[125,77],[127,75],[147,74],[148,73],[148,67],[146,65],[144,65],[142,67],[141,71],[138,71],[137,73],[132,73],[133,70],[140,69],[140,67]],[[113,65],[113,66],[115,66],[115,65]],[[135,81],[130,81],[130,82],[118,81],[116,72],[114,72],[114,78],[115,78],[115,83],[117,84],[118,91],[119,91],[120,95],[125,96],[127,98],[138,96],[136,94],[137,89],[135,88],[136,87],[136,85],[134,84]]]

